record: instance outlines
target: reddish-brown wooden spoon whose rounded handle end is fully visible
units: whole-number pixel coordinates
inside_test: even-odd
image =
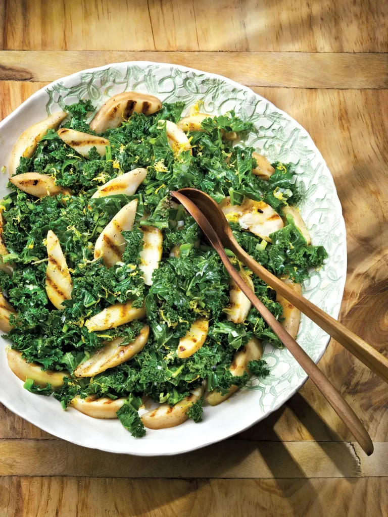
[[[193,189],[182,189],[179,192],[171,192],[171,195],[180,201],[189,212],[189,214],[191,214],[191,216],[197,221],[208,240],[210,240],[213,248],[221,257],[221,260],[225,265],[229,275],[233,278],[238,287],[240,287],[245,296],[249,298],[253,306],[255,306],[256,309],[260,312],[264,321],[272,328],[280,341],[285,344],[289,352],[293,355],[297,362],[299,362],[303,370],[311,378],[311,381],[315,383],[317,388],[322,392],[323,396],[327,399],[327,401],[329,401],[339,418],[342,420],[342,422],[345,423],[364,452],[369,456],[373,452],[374,447],[372,440],[370,439],[370,436],[364,428],[361,420],[357,417],[345,399],[342,398],[342,396],[338,393],[329,379],[317,367],[315,362],[306,354],[303,348],[297,344],[297,342],[290,336],[290,334],[286,332],[286,330],[276,320],[275,316],[265,307],[265,305],[263,305],[255,293],[250,290],[248,285],[244,282],[240,275],[238,275],[238,272],[233,267],[227,254],[225,253],[222,242],[213,229],[213,226],[202,214],[199,208],[192,201],[190,201],[188,197],[182,194],[183,191],[187,190]]]

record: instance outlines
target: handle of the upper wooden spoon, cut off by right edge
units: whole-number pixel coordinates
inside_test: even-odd
[[[277,293],[285,297],[297,309],[306,314],[314,323],[327,332],[332,338],[344,346],[357,359],[360,359],[372,372],[375,372],[380,378],[388,383],[388,359],[380,354],[374,347],[370,346],[363,339],[359,338],[347,329],[344,325],[337,322],[332,316],[326,314],[319,307],[311,303],[309,300],[295,293],[288,285],[279,280],[275,275],[265,267],[258,264],[253,258],[246,253],[240,245],[233,239],[230,239],[230,247],[233,253],[240,258],[249,269],[251,269],[258,277],[270,285]]]

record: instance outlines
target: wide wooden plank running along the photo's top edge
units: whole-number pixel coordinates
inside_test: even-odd
[[[12,0],[3,48],[386,52],[384,0]],[[330,73],[330,72],[329,72]]]

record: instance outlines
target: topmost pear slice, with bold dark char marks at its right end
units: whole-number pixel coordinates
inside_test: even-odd
[[[134,112],[152,115],[160,108],[160,100],[153,95],[124,92],[115,95],[102,104],[91,121],[90,128],[96,133],[103,133],[107,129],[120,127],[123,120],[127,120]]]

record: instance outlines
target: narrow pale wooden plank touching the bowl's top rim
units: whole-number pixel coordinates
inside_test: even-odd
[[[247,86],[388,87],[388,54],[306,52],[0,51],[0,80],[50,82],[85,68],[131,60],[190,66]]]

